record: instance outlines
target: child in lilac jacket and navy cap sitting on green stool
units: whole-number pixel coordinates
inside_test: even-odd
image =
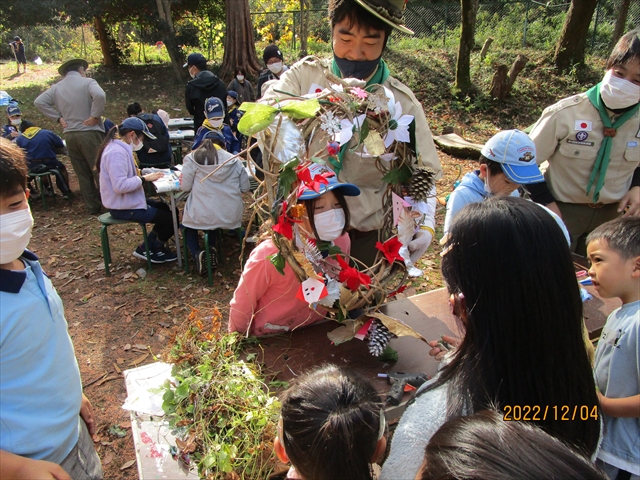
[[[163,177],[162,172],[140,175],[133,152],[142,148],[142,140],[155,137],[138,117],[129,117],[107,133],[100,147],[96,168],[100,172],[100,193],[105,208],[117,220],[153,223],[149,233],[151,262],[175,261],[178,257],[166,245],[173,234],[173,217],[169,206],[145,197],[143,185]],[[144,243],[138,245],[133,256],[146,260]]]

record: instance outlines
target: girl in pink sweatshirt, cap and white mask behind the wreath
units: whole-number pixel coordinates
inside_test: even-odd
[[[306,185],[298,190],[298,202],[304,208],[302,221],[293,228],[302,241],[316,245],[321,253],[328,254],[331,246],[337,246],[348,255],[350,215],[345,197],[359,195],[360,189],[350,183],[340,183],[335,172],[325,165],[312,163],[307,168],[311,178],[320,175],[327,183],[321,183],[317,191]],[[268,231],[271,225],[265,228]],[[289,264],[284,267],[284,275],[278,272],[270,259],[276,253],[278,248],[270,237],[251,252],[229,304],[230,332],[252,336],[282,333],[324,318],[298,297],[300,282]],[[333,266],[334,260],[322,262]],[[334,270],[326,269],[327,272]]]

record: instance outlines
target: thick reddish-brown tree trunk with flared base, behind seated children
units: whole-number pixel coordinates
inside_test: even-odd
[[[260,64],[253,38],[249,0],[226,0],[226,14],[227,28],[220,77],[231,75],[238,67],[244,67],[247,73],[255,75],[260,71]]]

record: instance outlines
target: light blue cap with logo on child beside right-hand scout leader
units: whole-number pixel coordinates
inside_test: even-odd
[[[520,130],[496,133],[484,144],[482,156],[497,162],[509,180],[520,185],[544,182],[536,163],[536,146]]]

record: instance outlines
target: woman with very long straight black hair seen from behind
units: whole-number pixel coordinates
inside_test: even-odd
[[[494,404],[592,455],[598,398],[558,224],[532,202],[493,197],[458,213],[444,252],[442,274],[464,338],[401,418],[381,478],[414,478],[446,420]]]

